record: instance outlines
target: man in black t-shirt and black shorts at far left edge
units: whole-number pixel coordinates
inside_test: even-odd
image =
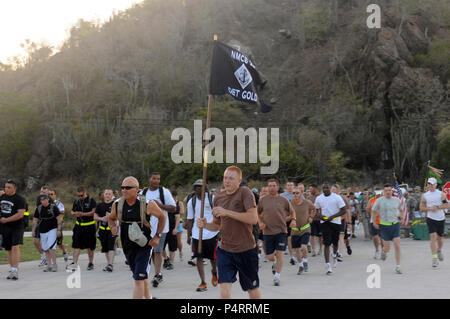
[[[19,279],[19,245],[23,245],[24,224],[22,218],[26,206],[25,199],[16,192],[17,184],[13,180],[8,180],[5,184],[5,194],[0,197],[3,247],[8,252],[8,261],[11,266],[6,279],[12,280]]]

